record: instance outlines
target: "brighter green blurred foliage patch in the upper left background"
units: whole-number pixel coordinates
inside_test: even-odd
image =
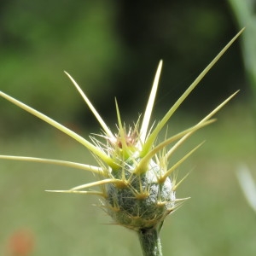
[[[113,12],[111,1],[2,4],[1,90],[53,117],[73,121],[84,106],[63,70],[72,73],[98,101],[108,96],[120,55]],[[19,124],[22,129],[27,116],[3,101],[0,104],[6,122],[1,125],[11,130]]]

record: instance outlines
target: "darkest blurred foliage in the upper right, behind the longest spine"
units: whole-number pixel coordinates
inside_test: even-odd
[[[169,108],[237,32],[225,1],[138,1],[135,5],[120,2],[119,34],[130,58],[127,68],[116,79],[125,83],[122,92],[127,108],[130,102],[135,108],[142,108],[144,102],[141,105],[133,99],[148,91],[145,88],[152,81],[148,73],[154,73],[160,59],[164,60],[164,68],[159,101],[160,106]],[[246,95],[241,63],[236,43],[189,96],[185,111],[201,113],[202,109],[216,105],[219,95],[226,96],[238,88]]]

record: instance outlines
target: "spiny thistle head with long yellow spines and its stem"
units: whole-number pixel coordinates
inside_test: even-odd
[[[242,30],[241,30],[242,32]],[[110,131],[108,125],[104,122],[96,108],[90,103],[79,85],[68,74],[73,85],[83,97],[91,112],[94,113],[99,124],[102,126],[102,134],[99,137],[90,137],[91,142],[79,134],[71,131],[64,125],[50,119],[44,113],[27,106],[26,104],[0,92],[0,96],[32,113],[39,119],[43,119],[49,125],[66,133],[69,137],[77,140],[89,149],[95,156],[98,166],[85,165],[64,160],[51,160],[35,157],[1,155],[5,160],[26,160],[47,163],[52,165],[69,166],[94,172],[99,179],[93,183],[86,183],[67,190],[48,190],[61,193],[76,193],[85,195],[100,196],[100,207],[108,213],[113,219],[114,224],[124,226],[129,230],[137,232],[139,241],[143,249],[143,255],[160,256],[160,230],[167,215],[174,212],[175,209],[186,199],[177,199],[176,190],[183,179],[177,182],[173,172],[186,160],[190,154],[193,154],[199,144],[188,153],[184,154],[180,160],[169,166],[169,160],[172,154],[179,148],[186,139],[195,131],[210,125],[214,119],[212,116],[218,112],[230,99],[236,95],[237,91],[228,97],[224,102],[214,108],[204,119],[192,127],[173,135],[166,137],[161,143],[157,143],[157,137],[163,130],[167,121],[185,100],[189,93],[195,89],[195,86],[207,74],[212,66],[224,54],[231,44],[241,34],[239,32],[229,44],[212,60],[212,62],[202,71],[182,96],[174,103],[172,108],[164,115],[157,124],[150,125],[150,117],[154,107],[162,61],[157,68],[152,90],[148,98],[148,104],[143,114],[142,121],[139,118],[134,125],[125,126],[122,122],[118,103],[115,100],[117,112],[117,131]],[[98,188],[94,190],[93,188]]]

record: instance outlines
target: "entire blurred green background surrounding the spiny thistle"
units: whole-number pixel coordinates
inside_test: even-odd
[[[87,138],[100,127],[63,70],[115,129],[114,96],[125,123],[133,123],[163,59],[154,112],[160,119],[224,44],[255,22],[241,24],[233,11],[222,0],[3,0],[0,88]],[[253,40],[255,34],[242,37]],[[256,170],[256,90],[243,64],[242,37],[169,123],[170,133],[189,127],[241,89],[218,122],[179,153],[207,140],[179,170],[180,178],[193,170],[177,191],[177,197],[191,199],[166,220],[165,255],[255,255],[255,212],[235,173],[241,163]],[[86,148],[3,99],[0,154],[95,164]],[[141,255],[135,234],[91,206],[97,198],[44,192],[94,180],[83,171],[1,160],[0,255],[21,255],[9,252],[17,237],[32,247],[22,255]]]

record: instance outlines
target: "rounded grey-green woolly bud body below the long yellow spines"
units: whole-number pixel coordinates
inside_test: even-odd
[[[166,218],[175,207],[175,191],[171,178],[160,180],[164,170],[150,160],[147,171],[137,173],[139,157],[127,159],[112,172],[124,184],[109,183],[104,207],[113,220],[131,230],[152,228]]]

